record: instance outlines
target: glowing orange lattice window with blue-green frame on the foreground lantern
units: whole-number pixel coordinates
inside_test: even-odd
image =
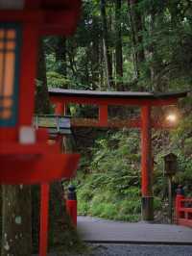
[[[0,24],[0,126],[16,123],[20,27]]]

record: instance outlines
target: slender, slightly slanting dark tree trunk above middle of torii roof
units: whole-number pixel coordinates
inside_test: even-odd
[[[112,85],[112,62],[111,54],[109,51],[109,41],[108,41],[108,24],[107,24],[107,14],[106,14],[106,0],[101,0],[101,15],[102,15],[102,25],[103,25],[103,49],[104,49],[104,59],[106,62],[106,73],[107,73],[107,83],[108,90]]]

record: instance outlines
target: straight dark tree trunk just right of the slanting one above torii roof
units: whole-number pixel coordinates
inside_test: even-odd
[[[123,90],[123,54],[121,38],[121,0],[115,1],[115,59],[116,59],[116,86]]]

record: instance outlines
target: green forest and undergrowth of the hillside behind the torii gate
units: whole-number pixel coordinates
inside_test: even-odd
[[[44,38],[37,78],[38,113],[50,112],[39,99],[47,88],[120,91],[190,91],[192,83],[191,1],[84,0],[72,38]],[[167,177],[163,156],[178,156],[174,177],[190,195],[192,184],[191,93],[178,106],[177,129],[153,130],[156,221],[167,222]],[[45,97],[44,97],[45,99]],[[40,104],[38,104],[40,102]],[[43,106],[43,108],[41,107]],[[158,108],[153,115],[166,110]],[[111,109],[114,115],[138,110]],[[94,107],[71,105],[67,115],[94,116]],[[137,221],[140,216],[140,135],[137,130],[74,129],[70,143],[81,152],[75,181],[79,214]]]

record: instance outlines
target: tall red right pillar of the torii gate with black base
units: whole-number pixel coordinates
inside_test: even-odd
[[[143,106],[141,108],[141,192],[143,220],[154,219],[152,175],[151,106]]]

